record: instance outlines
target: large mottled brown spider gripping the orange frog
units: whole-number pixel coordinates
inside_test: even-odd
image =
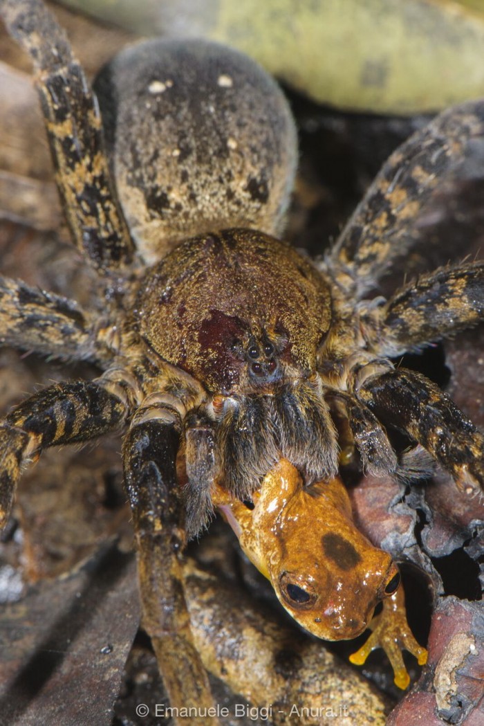
[[[135,46],[97,81],[101,121],[41,0],[0,7],[36,66],[73,239],[104,282],[86,311],[1,280],[5,344],[104,370],[45,388],[6,417],[1,523],[22,465],[41,449],[124,426],[144,624],[172,701],[210,705],[178,558],[218,489],[254,499],[282,461],[316,496],[348,445],[370,473],[402,478],[427,473],[425,449],[462,489],[482,489],[483,436],[438,386],[390,358],[479,322],[484,264],[439,269],[389,300],[372,291],[418,244],[405,221],[481,128],[484,105],[441,115],[395,152],[337,244],[312,264],[269,236],[282,229],[295,132],[282,94],[252,62],[203,43]],[[385,425],[418,446],[398,455]],[[354,560],[337,534],[327,540],[332,557]],[[299,576],[283,571],[273,584],[296,616],[310,600],[319,606]],[[343,623],[319,606],[313,629],[358,635],[397,586],[386,556],[361,617]]]

